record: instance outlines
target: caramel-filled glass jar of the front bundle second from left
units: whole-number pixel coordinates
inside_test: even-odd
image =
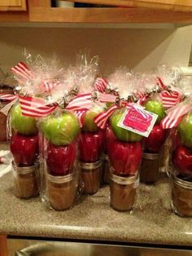
[[[46,174],[46,190],[50,205],[55,210],[67,210],[76,201],[77,193],[76,174],[53,176]]]

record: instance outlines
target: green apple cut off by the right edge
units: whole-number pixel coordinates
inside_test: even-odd
[[[181,118],[178,125],[178,135],[186,147],[192,148],[192,113]]]

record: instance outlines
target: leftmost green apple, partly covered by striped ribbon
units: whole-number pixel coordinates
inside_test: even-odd
[[[38,132],[35,118],[23,116],[20,104],[11,108],[11,128],[21,135],[36,135]]]

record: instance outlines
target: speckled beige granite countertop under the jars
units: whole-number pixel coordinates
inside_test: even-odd
[[[39,198],[13,195],[11,173],[0,178],[0,234],[161,245],[192,245],[192,219],[172,214],[168,180],[141,184],[132,214],[109,206],[109,188],[85,196],[72,209],[57,212]]]

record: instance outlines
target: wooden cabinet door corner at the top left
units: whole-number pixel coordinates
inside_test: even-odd
[[[0,11],[26,11],[26,0],[0,0]]]

